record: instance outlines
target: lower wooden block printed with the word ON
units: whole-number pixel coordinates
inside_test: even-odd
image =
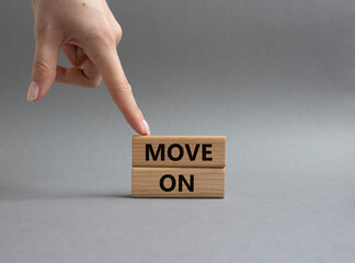
[[[133,168],[133,197],[225,197],[225,168]]]

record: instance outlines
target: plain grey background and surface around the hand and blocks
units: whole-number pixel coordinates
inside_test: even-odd
[[[108,3],[152,134],[227,136],[226,198],[130,198],[107,91],[27,103],[31,1],[1,1],[0,261],[354,262],[354,0]]]

